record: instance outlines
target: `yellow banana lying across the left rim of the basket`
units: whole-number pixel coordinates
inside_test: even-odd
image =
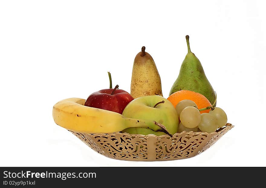
[[[114,133],[130,127],[150,128],[172,135],[164,125],[150,120],[127,118],[119,113],[84,106],[85,99],[69,98],[53,107],[54,122],[68,130],[82,133]]]

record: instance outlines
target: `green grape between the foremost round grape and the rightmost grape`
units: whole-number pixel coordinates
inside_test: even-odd
[[[218,128],[218,121],[216,117],[208,114],[208,113],[202,113],[201,115],[201,121],[198,127],[203,132],[215,132]]]

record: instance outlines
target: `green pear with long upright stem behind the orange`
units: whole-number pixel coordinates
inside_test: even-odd
[[[190,90],[204,95],[211,104],[215,102],[215,92],[207,79],[200,60],[190,50],[189,36],[186,36],[188,53],[183,60],[179,75],[169,95],[180,90]],[[214,107],[216,103],[214,104]]]

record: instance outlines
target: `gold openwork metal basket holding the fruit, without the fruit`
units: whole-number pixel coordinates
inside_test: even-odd
[[[168,135],[130,135],[128,133],[86,134],[70,131],[99,154],[112,159],[164,161],[194,157],[208,149],[234,126],[227,123],[216,132],[176,133]]]

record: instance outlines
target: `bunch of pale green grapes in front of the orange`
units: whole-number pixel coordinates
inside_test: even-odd
[[[209,113],[200,114],[200,111],[206,109],[211,110]],[[176,110],[181,121],[178,132],[203,131],[211,133],[215,132],[217,128],[225,126],[227,123],[227,116],[219,107],[209,106],[204,109],[198,109],[195,102],[182,100],[177,104]]]

